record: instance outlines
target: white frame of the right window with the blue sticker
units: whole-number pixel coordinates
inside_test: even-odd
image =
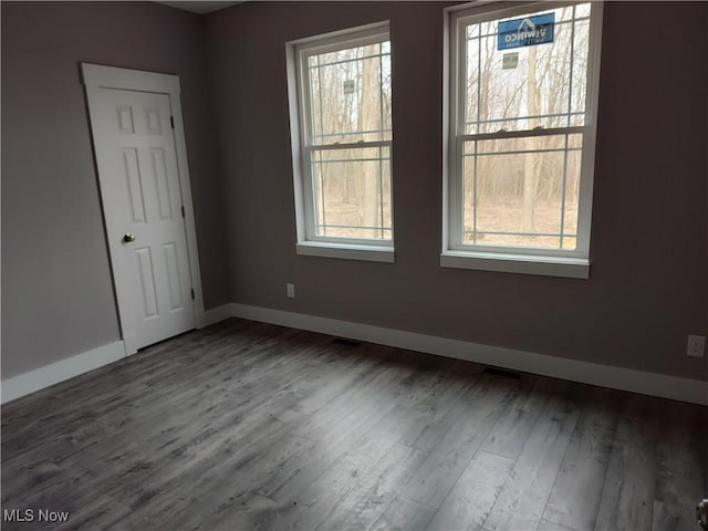
[[[585,96],[585,125],[570,127],[583,133],[583,150],[577,215],[577,246],[569,249],[538,249],[462,244],[461,226],[461,153],[466,136],[458,115],[458,104],[465,96],[464,27],[470,22],[488,21],[539,10],[585,3],[525,2],[509,8],[503,2],[476,2],[473,7],[449,8],[446,17],[446,46],[444,61],[444,167],[442,167],[442,252],[440,266],[550,277],[590,278],[590,228],[592,221],[593,174],[597,125],[597,95],[600,87],[600,56],[602,44],[602,2],[592,2],[589,35],[587,85]],[[561,134],[565,133],[562,129]],[[528,136],[527,134],[522,134]],[[521,136],[517,132],[485,135],[489,138]]]

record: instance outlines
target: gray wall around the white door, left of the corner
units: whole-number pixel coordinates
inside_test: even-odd
[[[148,2],[2,2],[2,378],[119,339],[82,61],[178,74],[207,308],[229,300],[205,24]]]

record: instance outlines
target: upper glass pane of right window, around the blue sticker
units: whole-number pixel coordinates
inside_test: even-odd
[[[466,134],[584,124],[591,7],[563,7],[466,28]],[[553,42],[498,50],[499,23],[555,17]]]

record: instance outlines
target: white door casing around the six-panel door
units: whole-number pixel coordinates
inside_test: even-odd
[[[118,91],[136,91],[165,94],[169,97],[169,106],[171,117],[174,119],[173,134],[175,138],[175,152],[177,154],[177,171],[179,174],[179,188],[181,194],[181,204],[185,209],[184,223],[187,240],[187,256],[189,261],[189,279],[191,289],[194,290],[194,312],[195,325],[199,327],[200,317],[204,315],[204,293],[201,291],[201,273],[199,269],[199,254],[197,246],[197,228],[195,226],[194,205],[191,200],[191,184],[189,180],[189,164],[187,162],[187,143],[185,139],[185,127],[181,116],[179,76],[173,74],[162,74],[157,72],[147,72],[143,70],[119,69],[115,66],[106,66],[93,63],[81,63],[82,82],[86,90],[86,101],[88,104],[88,122],[91,125],[91,136],[93,140],[94,160],[96,163],[96,173],[98,174],[98,158],[96,153],[97,133],[93,127],[92,114],[96,108],[96,96],[102,88],[113,88]],[[101,196],[101,207],[105,210],[104,197],[101,190],[101,178],[96,175],[98,181],[98,191]],[[118,289],[116,285],[115,271],[113,268],[114,250],[107,236],[107,226],[104,215],[104,230],[106,231],[106,243],[111,256],[111,279],[116,296],[116,306],[118,309],[118,321],[121,327],[121,337],[125,339],[126,329],[131,326],[131,320],[124,314],[125,305],[118,302]],[[125,355],[135,354],[136,351],[129,352],[127,342],[123,341]]]

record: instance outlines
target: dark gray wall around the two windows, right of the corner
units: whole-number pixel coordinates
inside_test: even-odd
[[[685,355],[687,334],[708,332],[707,8],[605,7],[590,280],[439,267],[442,3],[249,2],[208,15],[231,299],[708,379],[707,361]],[[296,257],[284,44],[385,19],[396,263]]]

